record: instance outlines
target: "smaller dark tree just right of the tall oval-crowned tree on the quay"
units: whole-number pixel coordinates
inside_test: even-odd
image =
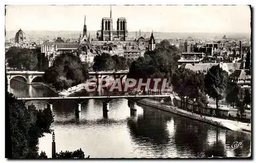
[[[228,82],[225,99],[228,103],[232,103],[233,107],[234,107],[234,104],[238,101],[238,94],[239,94],[238,84],[234,82]]]

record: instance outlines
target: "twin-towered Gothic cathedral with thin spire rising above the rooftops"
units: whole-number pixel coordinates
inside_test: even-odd
[[[127,40],[127,22],[121,17],[117,19],[117,30],[113,30],[112,10],[110,9],[110,17],[103,17],[101,20],[101,30],[97,31],[97,39],[99,41]]]

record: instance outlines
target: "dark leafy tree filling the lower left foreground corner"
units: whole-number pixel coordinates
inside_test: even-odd
[[[8,94],[13,158],[38,158],[38,142],[44,133],[51,133],[53,123],[51,109],[25,106],[23,101]]]

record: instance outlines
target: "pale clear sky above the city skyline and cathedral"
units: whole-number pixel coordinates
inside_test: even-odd
[[[6,6],[6,30],[100,30],[110,6]],[[128,31],[250,33],[249,6],[112,6],[113,29],[125,17]]]

